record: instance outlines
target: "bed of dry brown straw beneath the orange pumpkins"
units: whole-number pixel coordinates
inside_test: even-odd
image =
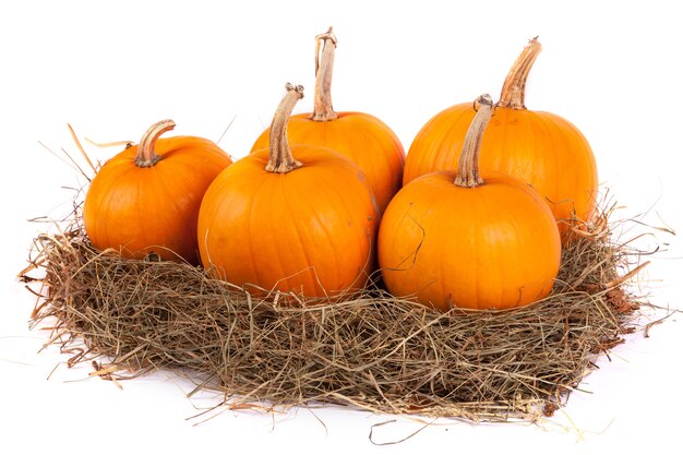
[[[614,239],[628,221],[612,208],[565,249],[550,297],[507,311],[435,313],[379,286],[336,302],[260,299],[188,264],[95,250],[77,207],[35,239],[20,275],[40,296],[33,325],[52,327],[46,345],[105,379],[192,372],[232,409],[534,420],[566,403],[645,303],[624,287],[643,253]]]

